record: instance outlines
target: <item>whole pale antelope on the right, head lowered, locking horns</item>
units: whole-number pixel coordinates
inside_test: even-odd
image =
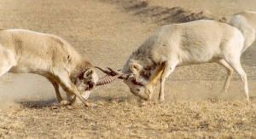
[[[215,20],[162,26],[132,53],[121,72],[111,68],[105,72],[119,75],[131,92],[144,100],[151,98],[160,79],[159,100],[163,102],[166,78],[175,67],[217,62],[228,71],[224,86],[229,85],[230,71],[235,69],[249,101],[247,74],[240,63],[243,43],[236,27]]]

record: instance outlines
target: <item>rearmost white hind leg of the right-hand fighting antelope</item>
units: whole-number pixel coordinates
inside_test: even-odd
[[[240,58],[232,57],[230,59],[227,59],[227,62],[230,64],[231,67],[233,67],[236,72],[240,75],[241,81],[243,82],[244,87],[244,94],[246,96],[247,101],[249,100],[249,90],[248,90],[248,83],[247,83],[247,74],[244,72],[244,70],[241,67]]]

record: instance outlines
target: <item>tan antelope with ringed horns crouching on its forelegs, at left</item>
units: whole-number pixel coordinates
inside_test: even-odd
[[[108,78],[98,81],[95,68],[65,40],[21,29],[0,31],[0,77],[6,72],[42,75],[53,84],[59,102],[67,103],[61,98],[61,85],[71,104],[78,96],[85,106],[95,106],[86,101],[90,90],[108,84]]]

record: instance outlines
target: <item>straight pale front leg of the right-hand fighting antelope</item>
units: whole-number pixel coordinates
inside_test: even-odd
[[[164,72],[160,77],[160,93],[159,93],[159,101],[160,103],[165,101],[165,83],[166,78],[170,76],[170,74],[174,71],[175,67],[179,61],[166,61],[163,63]]]

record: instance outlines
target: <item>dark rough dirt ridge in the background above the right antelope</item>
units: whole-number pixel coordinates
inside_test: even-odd
[[[127,12],[131,14],[140,16],[144,21],[153,20],[155,23],[160,25],[166,25],[171,23],[182,23],[192,20],[219,20],[226,22],[225,17],[216,17],[211,12],[207,10],[202,10],[200,12],[193,12],[189,9],[182,7],[160,7],[149,5],[147,1],[141,0],[125,0],[116,1],[110,0],[111,3],[119,3],[124,7]]]

